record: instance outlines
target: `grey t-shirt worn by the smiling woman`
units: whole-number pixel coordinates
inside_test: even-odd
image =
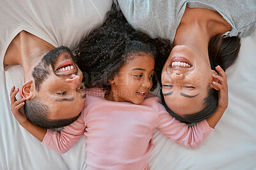
[[[245,37],[256,31],[256,0],[118,0],[118,4],[134,29],[172,42],[186,6],[218,11],[232,26],[225,36]]]

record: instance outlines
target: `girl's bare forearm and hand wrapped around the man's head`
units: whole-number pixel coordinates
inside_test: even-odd
[[[47,129],[44,129],[42,127],[38,127],[32,122],[28,120],[24,113],[24,104],[25,100],[24,98],[21,98],[19,100],[16,99],[16,94],[19,92],[19,89],[15,89],[13,86],[10,92],[10,98],[11,98],[11,110],[13,113],[13,116],[17,119],[19,124],[24,127],[29,133],[31,133],[35,138],[37,138],[39,141],[43,141],[44,136],[47,132]]]

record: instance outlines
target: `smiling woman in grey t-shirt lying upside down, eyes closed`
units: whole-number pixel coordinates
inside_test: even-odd
[[[166,110],[187,123],[210,117],[218,107],[219,90],[212,74],[217,74],[218,65],[224,70],[232,66],[240,48],[239,37],[255,32],[256,2],[120,0],[118,3],[135,29],[173,42],[170,56],[167,60],[159,59],[157,67],[163,68],[161,96]]]

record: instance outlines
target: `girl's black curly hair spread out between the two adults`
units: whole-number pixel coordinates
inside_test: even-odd
[[[156,59],[168,57],[170,51],[169,40],[152,39],[143,32],[135,31],[113,4],[106,22],[83,39],[76,51],[75,60],[84,73],[84,86],[98,87],[106,90],[108,94],[111,88],[108,80],[113,78],[134,54],[150,53]],[[153,90],[156,83],[154,78]]]

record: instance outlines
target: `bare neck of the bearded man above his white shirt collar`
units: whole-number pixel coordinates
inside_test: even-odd
[[[53,50],[55,47],[43,39],[26,31],[21,31],[12,40],[4,55],[4,66],[21,65],[24,74],[31,75],[33,67],[42,59],[43,53]]]

